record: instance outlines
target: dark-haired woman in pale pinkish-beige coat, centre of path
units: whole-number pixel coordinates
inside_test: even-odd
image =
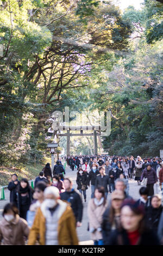
[[[94,245],[103,245],[101,224],[103,213],[107,207],[108,202],[106,202],[104,187],[96,188],[95,198],[89,201],[87,210],[89,231]]]

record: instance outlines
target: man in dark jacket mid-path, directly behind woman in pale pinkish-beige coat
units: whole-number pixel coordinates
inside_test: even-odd
[[[105,169],[99,167],[99,174],[96,176],[95,188],[98,186],[104,187],[105,197],[108,196],[108,185],[109,185],[109,175],[105,174]]]

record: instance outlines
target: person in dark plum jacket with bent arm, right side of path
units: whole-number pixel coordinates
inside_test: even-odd
[[[151,167],[151,163],[148,163],[147,167],[143,170],[143,173],[141,175],[141,182],[143,178],[147,178],[147,188],[149,190],[149,196],[153,196],[153,186],[158,181],[158,177],[156,175],[155,169]]]

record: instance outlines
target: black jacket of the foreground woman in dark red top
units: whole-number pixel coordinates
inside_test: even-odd
[[[106,245],[130,245],[126,230],[111,231]],[[160,245],[158,236],[152,230],[145,230],[140,237],[138,245]]]

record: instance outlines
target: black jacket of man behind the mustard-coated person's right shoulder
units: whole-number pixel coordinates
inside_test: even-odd
[[[74,216],[76,217],[76,221],[82,222],[83,204],[80,194],[72,188],[71,191],[65,191],[64,193],[61,193],[60,199],[71,203],[71,208],[73,210]]]

